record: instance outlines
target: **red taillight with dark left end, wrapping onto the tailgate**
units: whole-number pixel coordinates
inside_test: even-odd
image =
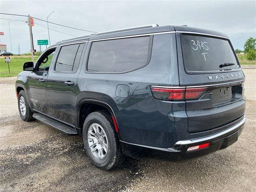
[[[200,98],[207,88],[165,88],[151,86],[150,90],[155,99],[167,101],[195,100]]]

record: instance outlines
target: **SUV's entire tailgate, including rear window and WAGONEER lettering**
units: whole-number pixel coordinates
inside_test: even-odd
[[[244,74],[227,38],[177,34],[188,132],[219,128],[244,115]],[[183,61],[183,62],[181,62]]]

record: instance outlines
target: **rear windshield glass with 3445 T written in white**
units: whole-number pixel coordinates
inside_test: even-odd
[[[238,64],[228,40],[181,35],[185,68],[188,72],[237,69]],[[223,64],[234,64],[223,66]]]

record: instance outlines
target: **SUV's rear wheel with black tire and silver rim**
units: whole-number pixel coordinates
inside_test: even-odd
[[[95,128],[98,132],[94,131]],[[96,139],[97,135],[98,139]],[[89,114],[84,121],[82,136],[86,154],[98,168],[108,170],[124,162],[125,156],[116,136],[116,130],[106,112],[98,111]],[[92,148],[89,143],[90,146],[93,145]]]

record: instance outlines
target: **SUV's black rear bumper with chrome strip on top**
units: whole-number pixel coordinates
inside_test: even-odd
[[[159,148],[152,146],[144,146],[140,144],[131,144],[121,141],[121,147],[125,155],[131,157],[150,157],[163,160],[185,160],[188,158],[195,158],[210,154],[217,150],[227,148],[238,140],[238,137],[242,133],[245,123],[245,116],[242,121],[234,126],[201,138],[194,138],[191,140],[181,140],[176,142],[170,148]],[[187,152],[187,149],[191,146],[196,146],[204,143],[210,143],[206,148]]]

